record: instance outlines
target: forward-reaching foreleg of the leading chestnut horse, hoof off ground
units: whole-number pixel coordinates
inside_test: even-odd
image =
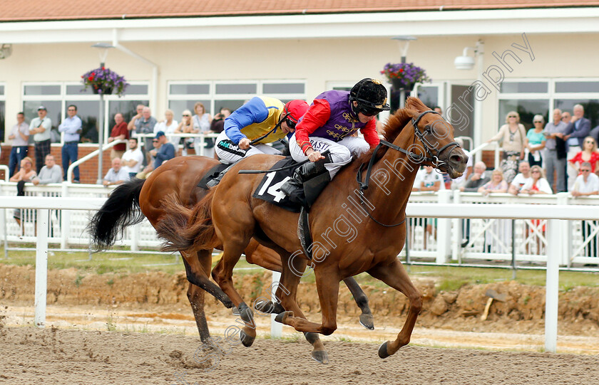
[[[379,357],[386,358],[391,354],[395,354],[400,347],[403,347],[410,342],[411,332],[416,325],[416,318],[418,317],[420,310],[422,310],[422,295],[411,283],[411,280],[404,269],[404,265],[401,265],[398,259],[395,259],[389,265],[377,265],[374,268],[368,270],[368,273],[374,278],[382,280],[387,285],[391,286],[396,290],[404,293],[410,301],[410,310],[406,317],[404,327],[401,328],[401,332],[397,334],[397,338],[394,341],[387,341],[379,347]]]

